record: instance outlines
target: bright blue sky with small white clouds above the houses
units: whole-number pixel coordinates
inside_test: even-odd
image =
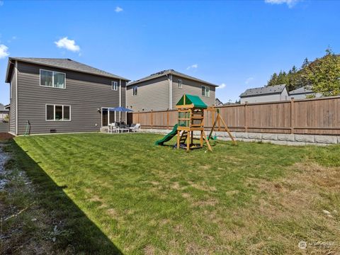
[[[340,51],[340,1],[1,1],[0,102],[10,57],[71,58],[140,79],[163,69],[235,101],[273,72]]]

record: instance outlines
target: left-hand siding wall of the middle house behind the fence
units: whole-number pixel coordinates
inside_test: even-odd
[[[137,96],[132,88],[138,86]],[[133,111],[164,111],[169,108],[169,79],[165,75],[127,87],[126,104]]]

